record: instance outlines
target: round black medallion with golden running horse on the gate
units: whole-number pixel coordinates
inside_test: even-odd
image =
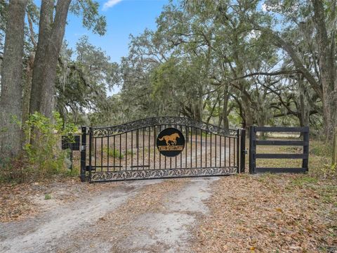
[[[157,136],[157,148],[161,155],[175,157],[184,150],[184,147],[185,137],[178,129],[169,127]]]

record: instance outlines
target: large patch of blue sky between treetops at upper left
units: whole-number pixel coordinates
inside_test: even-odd
[[[128,55],[129,34],[141,34],[145,28],[154,30],[156,18],[169,0],[98,0],[100,14],[107,18],[107,32],[100,37],[81,25],[81,17],[70,13],[65,29],[65,39],[70,47],[76,45],[80,37],[86,35],[91,44],[99,46],[119,63]]]

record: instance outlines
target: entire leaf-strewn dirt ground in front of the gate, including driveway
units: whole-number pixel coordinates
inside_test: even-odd
[[[0,187],[0,252],[337,252],[336,181],[306,175]]]

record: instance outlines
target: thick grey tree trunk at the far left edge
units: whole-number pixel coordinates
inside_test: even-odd
[[[15,157],[21,145],[22,56],[27,0],[8,6],[4,61],[1,71],[0,160]]]

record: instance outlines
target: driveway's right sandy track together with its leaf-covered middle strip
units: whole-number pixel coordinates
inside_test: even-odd
[[[192,227],[206,214],[210,186],[218,178],[169,179],[149,185],[100,217],[57,252],[191,252]]]

